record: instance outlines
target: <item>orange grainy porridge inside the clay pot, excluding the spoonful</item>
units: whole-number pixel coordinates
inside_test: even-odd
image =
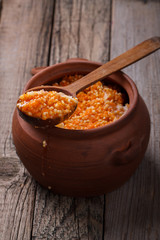
[[[66,86],[83,75],[65,76],[54,83]],[[116,84],[103,84],[101,81],[77,94],[78,105],[74,113],[57,127],[65,129],[92,129],[118,120],[129,108],[127,94]]]

